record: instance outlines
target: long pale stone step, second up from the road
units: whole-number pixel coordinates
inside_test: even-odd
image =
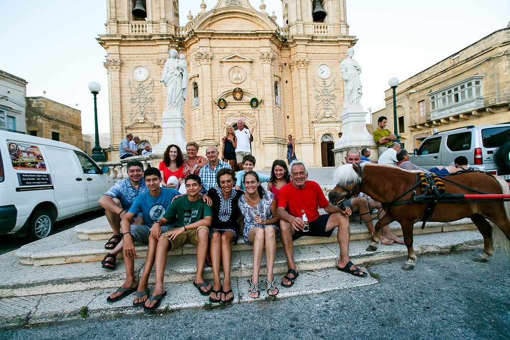
[[[63,232],[65,233],[65,232]],[[478,231],[464,230],[417,234],[414,238],[414,249],[417,254],[430,251],[458,248],[473,248],[482,245],[482,237]],[[349,245],[349,256],[354,264],[382,258],[405,256],[404,245],[392,244],[380,246],[375,252],[367,252],[367,240],[352,241]],[[252,251],[236,250],[232,254],[232,277],[251,275]],[[339,257],[338,243],[311,244],[294,247],[294,260],[298,271],[317,270],[335,267]],[[1,255],[0,298],[13,296],[33,296],[49,293],[85,291],[91,289],[107,289],[114,291],[125,279],[123,261],[117,261],[116,270],[101,268],[98,263],[70,263],[54,266],[26,266],[19,263],[14,252]],[[135,273],[140,275],[144,258],[135,259]],[[170,256],[165,270],[165,282],[192,281],[196,271],[196,257],[193,254]],[[266,272],[265,257],[262,259],[261,275]],[[279,282],[282,273],[287,272],[287,260],[283,249],[276,250],[274,271]],[[278,274],[278,275],[276,275]],[[212,269],[204,271],[206,279],[211,280]],[[154,283],[155,275],[151,274],[149,283]]]

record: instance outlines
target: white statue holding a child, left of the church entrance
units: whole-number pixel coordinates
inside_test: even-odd
[[[185,70],[186,61],[177,59],[177,50],[174,48],[170,49],[160,82],[166,86],[165,111],[179,112],[181,116],[188,87],[187,71],[186,77],[183,77]]]

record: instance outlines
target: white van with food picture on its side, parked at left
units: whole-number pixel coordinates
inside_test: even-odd
[[[107,171],[70,144],[0,130],[0,235],[42,239],[55,221],[99,208]]]

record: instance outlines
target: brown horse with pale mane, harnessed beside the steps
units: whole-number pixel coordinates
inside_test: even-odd
[[[427,203],[415,202],[410,204],[414,190],[416,190],[416,195],[422,194],[420,185],[406,193],[407,190],[416,185],[418,172],[371,163],[363,163],[362,165],[346,164],[336,170],[335,178],[338,184],[329,194],[331,204],[340,203],[341,199],[346,197],[349,192],[352,195],[358,195],[360,191],[382,204],[386,215],[377,221],[374,236],[367,250],[377,250],[382,226],[397,221],[402,227],[404,243],[407,247],[407,260],[402,267],[404,270],[412,270],[416,264],[417,257],[413,250],[413,224],[422,220],[428,205]],[[494,177],[482,172],[464,172],[443,178],[445,191],[451,194],[476,194],[476,191],[491,194],[510,193],[508,184],[501,177]],[[463,188],[450,181],[476,191]],[[404,195],[402,196],[402,194]],[[407,203],[385,206],[390,202],[404,200]],[[499,229],[494,228],[495,244],[501,244],[508,251],[510,244],[508,242],[510,240],[509,216],[510,202],[439,202],[427,221],[451,222],[469,217],[483,236],[483,252],[473,260],[487,262],[489,256],[493,255],[493,227],[487,220],[499,227]]]

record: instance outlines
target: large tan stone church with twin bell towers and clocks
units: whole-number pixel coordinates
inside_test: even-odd
[[[314,21],[317,1],[326,15]],[[127,133],[151,145],[161,139],[166,88],[159,81],[175,48],[188,65],[185,137],[201,146],[199,154],[208,145],[221,150],[226,126],[242,119],[255,129],[257,168],[286,159],[289,134],[299,160],[334,165],[330,150],[341,130],[344,96],[340,62],[356,42],[345,0],[282,0],[284,27],[263,2],[258,11],[247,0],[218,0],[210,10],[202,1],[185,27],[179,26],[179,0],[141,5],[146,18],[133,15],[134,0],[107,0],[106,34],[97,38],[107,52],[111,160]]]

